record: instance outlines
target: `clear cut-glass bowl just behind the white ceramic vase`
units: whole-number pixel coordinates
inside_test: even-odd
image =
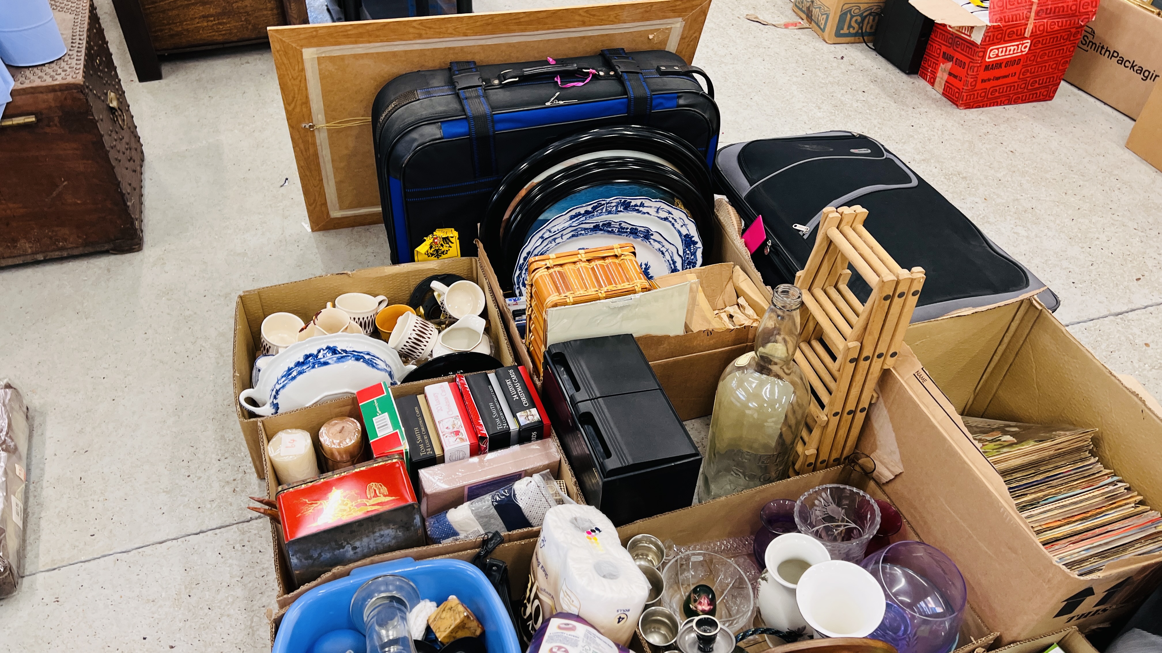
[[[795,502],[795,524],[801,533],[822,541],[832,560],[859,565],[868,540],[880,529],[880,507],[865,491],[829,483],[808,490]]]

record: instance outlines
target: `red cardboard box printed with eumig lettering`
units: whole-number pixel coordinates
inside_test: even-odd
[[[1052,100],[1097,0],[911,0],[937,22],[920,77],[961,109]],[[987,19],[983,20],[983,19]]]

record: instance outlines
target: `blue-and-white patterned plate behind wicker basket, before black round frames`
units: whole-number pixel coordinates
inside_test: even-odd
[[[573,207],[546,222],[521,247],[512,288],[525,292],[529,259],[632,243],[648,279],[702,265],[702,239],[690,216],[652,198],[608,198]]]

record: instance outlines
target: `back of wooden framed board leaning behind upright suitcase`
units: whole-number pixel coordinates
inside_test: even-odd
[[[604,48],[693,60],[710,0],[639,0],[268,30],[311,231],[382,222],[371,105],[393,78],[449,62],[530,62]],[[336,122],[351,127],[314,128]]]

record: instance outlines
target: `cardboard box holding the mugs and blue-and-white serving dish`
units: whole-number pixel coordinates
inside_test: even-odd
[[[279,311],[287,311],[308,320],[327,302],[343,293],[367,293],[386,295],[389,303],[407,303],[413,288],[432,274],[459,274],[469,281],[475,281],[482,288],[489,284],[485,271],[475,258],[451,258],[406,265],[368,267],[354,272],[340,272],[292,281],[278,286],[267,286],[257,290],[246,290],[238,295],[234,309],[234,409],[238,416],[242,436],[250,451],[250,460],[259,479],[265,474],[263,466],[263,446],[258,436],[258,418],[251,416],[238,403],[242,390],[250,387],[250,372],[254,365],[254,356],[261,343],[259,329],[263,320]],[[504,365],[514,365],[516,359],[509,344],[508,331],[497,308],[496,296],[485,293],[487,308],[482,317],[488,320],[488,336],[493,339],[493,356]],[[339,400],[343,401],[343,400]],[[358,417],[353,415],[352,417]],[[316,429],[317,431],[317,429]]]

